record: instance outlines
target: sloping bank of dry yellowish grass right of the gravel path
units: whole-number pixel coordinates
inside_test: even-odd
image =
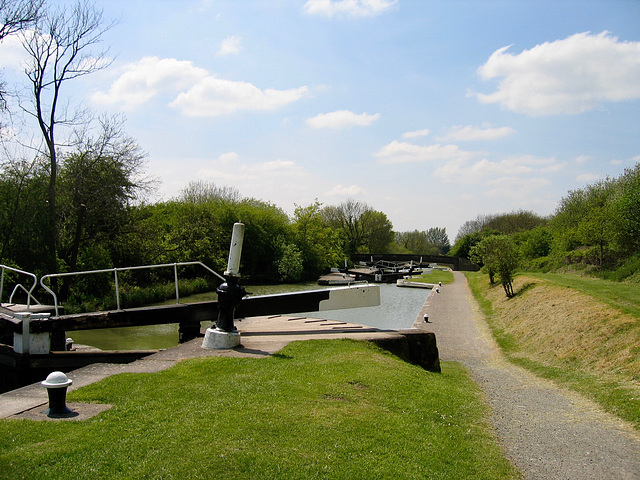
[[[467,274],[506,356],[577,390],[640,429],[638,289],[570,275],[520,275],[507,299]],[[620,285],[620,284],[617,284]]]

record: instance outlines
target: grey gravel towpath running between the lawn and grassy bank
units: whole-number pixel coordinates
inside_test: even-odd
[[[507,362],[467,280],[429,295],[422,316],[440,359],[465,365],[484,391],[504,451],[526,479],[639,479],[640,435],[590,400]],[[543,326],[541,326],[543,328]]]

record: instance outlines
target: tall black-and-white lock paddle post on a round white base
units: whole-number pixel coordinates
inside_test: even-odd
[[[207,328],[202,341],[202,348],[224,350],[240,345],[240,334],[233,324],[236,307],[242,301],[246,291],[239,285],[240,255],[244,240],[244,224],[234,223],[229,248],[227,270],[224,272],[226,282],[218,287],[218,322],[215,328]]]

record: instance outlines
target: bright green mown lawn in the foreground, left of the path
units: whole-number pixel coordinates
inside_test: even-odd
[[[0,478],[519,478],[463,367],[426,372],[364,342],[194,359],[69,397],[113,407],[0,421]]]

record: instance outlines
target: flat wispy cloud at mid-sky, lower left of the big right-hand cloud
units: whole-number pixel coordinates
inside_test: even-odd
[[[475,154],[460,150],[456,145],[422,146],[394,140],[374,155],[380,159],[380,163],[395,164],[468,159]]]

